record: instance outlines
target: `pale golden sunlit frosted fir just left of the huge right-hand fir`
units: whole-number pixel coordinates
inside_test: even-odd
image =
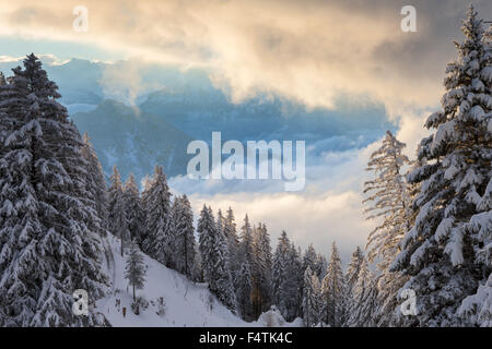
[[[377,258],[382,273],[378,278],[380,309],[376,312],[376,322],[382,326],[397,321],[398,290],[408,279],[399,272],[389,270],[399,252],[399,242],[410,230],[410,196],[402,170],[410,161],[402,154],[405,146],[387,131],[367,163],[374,179],[364,183],[364,193],[368,195],[364,203],[371,205],[365,210],[367,219],[378,220],[367,239],[367,258],[368,262]]]

